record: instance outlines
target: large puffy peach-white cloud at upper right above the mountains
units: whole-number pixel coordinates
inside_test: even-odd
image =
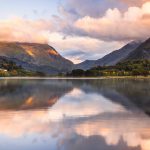
[[[75,22],[87,36],[103,40],[137,40],[150,35],[150,2],[142,7],[129,7],[124,13],[108,9],[103,17],[85,16]]]

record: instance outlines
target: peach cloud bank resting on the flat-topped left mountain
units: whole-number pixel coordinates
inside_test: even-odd
[[[12,18],[0,21],[0,41],[40,42],[47,43],[51,21],[25,20]]]

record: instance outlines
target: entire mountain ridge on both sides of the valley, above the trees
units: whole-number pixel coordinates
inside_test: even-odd
[[[27,42],[0,42],[0,60],[14,62],[25,70],[58,75],[74,69],[88,70],[97,66],[114,66],[134,59],[150,59],[150,38],[144,42],[132,41],[98,60],[85,60],[73,64],[61,56],[52,46]]]

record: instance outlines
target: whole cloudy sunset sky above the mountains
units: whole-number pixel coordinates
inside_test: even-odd
[[[0,41],[48,43],[74,63],[150,37],[150,0],[0,0]]]

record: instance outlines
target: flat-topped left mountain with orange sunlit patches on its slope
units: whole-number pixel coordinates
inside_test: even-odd
[[[73,63],[48,44],[0,42],[0,59],[5,57],[24,69],[58,74],[72,69]]]

